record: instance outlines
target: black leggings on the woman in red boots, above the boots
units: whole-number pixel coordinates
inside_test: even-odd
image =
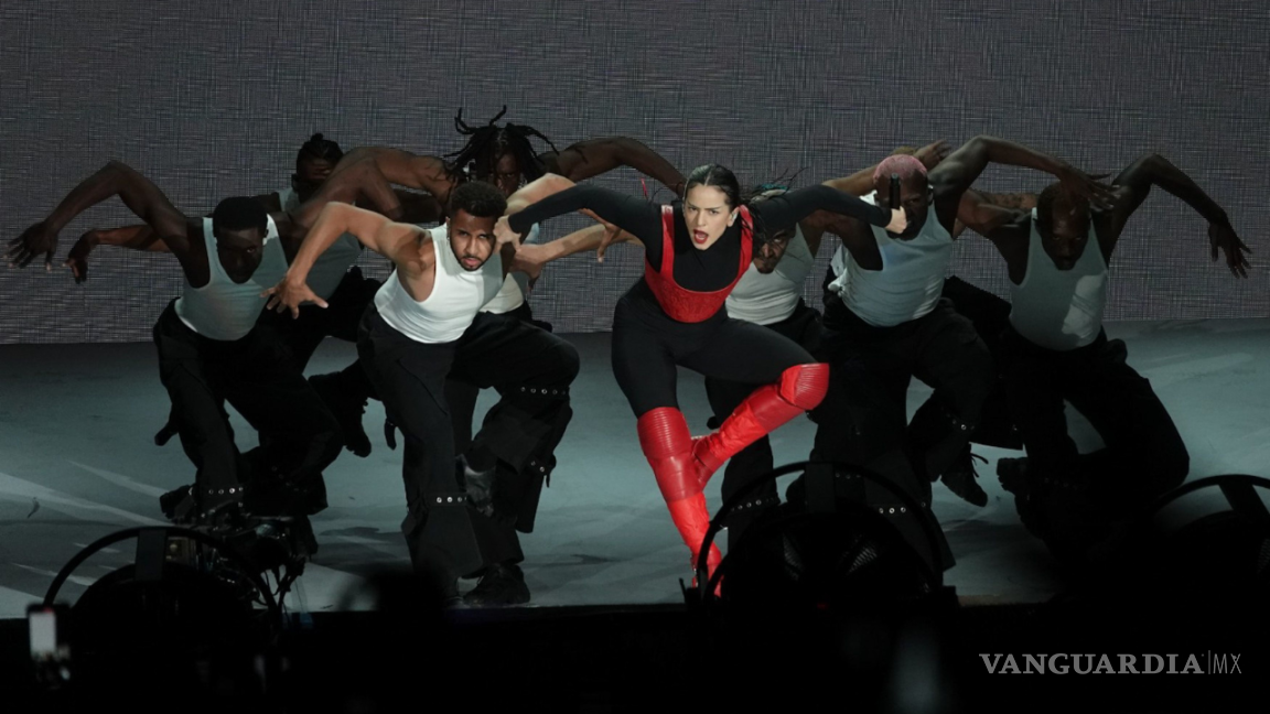
[[[677,367],[758,387],[779,381],[790,367],[815,362],[789,338],[733,320],[724,310],[702,323],[673,320],[643,280],[617,302],[612,358],[613,376],[636,417],[678,408]]]

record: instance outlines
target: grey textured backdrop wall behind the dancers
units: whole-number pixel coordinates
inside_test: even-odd
[[[1158,151],[1205,187],[1253,246],[1252,278],[1206,260],[1205,225],[1153,194],[1119,248],[1114,319],[1265,316],[1270,219],[1270,4],[932,0],[732,3],[102,3],[0,5],[0,232],[43,217],[108,159],[187,211],[286,185],[300,144],[446,152],[452,117],[530,123],[558,146],[644,140],[672,163],[765,180],[842,175],[899,144],[994,133],[1093,170]],[[639,192],[630,172],[602,179]],[[1044,177],[991,170],[991,189]],[[118,201],[62,235],[132,222]],[[559,235],[558,222],[549,235]],[[829,249],[822,249],[822,264]],[[640,271],[549,269],[535,297],[558,330],[607,329]],[[955,271],[997,292],[970,238]],[[819,302],[809,280],[809,299]],[[180,288],[175,262],[102,249],[86,286],[0,271],[0,343],[149,338]]]

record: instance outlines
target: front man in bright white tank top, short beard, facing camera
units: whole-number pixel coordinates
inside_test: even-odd
[[[439,569],[452,598],[457,598],[457,578],[483,564],[467,502],[475,495],[485,501],[488,494],[475,494],[471,484],[467,490],[460,484],[444,381],[451,371],[461,374],[470,367],[462,358],[469,328],[511,268],[514,248],[494,241],[494,221],[505,210],[503,193],[483,182],[456,188],[450,194],[446,224],[432,230],[333,203],[324,210],[287,277],[268,291],[274,293],[273,304],[290,307],[292,314],[304,302],[323,305],[305,280],[319,255],[344,232],[396,266],[362,319],[358,358],[389,418],[405,436],[408,515],[401,529],[411,563],[417,569]],[[559,368],[561,375],[525,375],[521,365],[504,360],[491,386],[508,394],[526,384],[559,390],[552,380],[566,382],[577,372],[577,362],[560,363]],[[535,391],[538,389],[535,386]],[[498,431],[532,450],[546,434],[528,433],[535,421],[521,417],[542,408],[542,400],[516,394],[505,399],[511,407],[503,412],[507,424],[486,422],[475,441],[480,443],[486,431]],[[525,433],[513,433],[511,426]]]

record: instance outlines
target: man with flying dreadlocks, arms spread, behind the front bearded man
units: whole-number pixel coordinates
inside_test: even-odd
[[[418,156],[406,151],[386,147],[363,147],[349,152],[348,159],[337,168],[339,175],[347,169],[366,169],[372,166],[385,182],[399,183],[411,188],[432,192],[438,198],[448,196],[455,187],[469,180],[481,180],[497,185],[511,196],[525,185],[537,185],[541,191],[558,191],[559,185],[572,185],[573,180],[583,180],[608,170],[630,166],[667,184],[682,187],[683,177],[668,161],[652,149],[629,137],[606,137],[577,142],[563,151],[556,151],[551,140],[530,126],[497,122],[503,112],[484,126],[472,127],[462,121],[462,113],[456,117],[455,126],[460,133],[469,137],[458,151],[446,156]],[[545,141],[551,150],[537,152],[532,140]],[[549,174],[547,172],[554,172]],[[560,174],[560,175],[556,175]],[[555,183],[563,182],[561,184]],[[566,180],[572,179],[572,180]],[[526,183],[531,182],[531,183]],[[537,191],[537,189],[536,189]],[[541,193],[522,193],[513,201],[532,201]],[[536,240],[537,229],[532,229],[526,243]],[[516,455],[495,454],[475,445],[472,438],[472,418],[476,399],[481,387],[491,386],[491,372],[498,363],[514,354],[522,362],[544,360],[565,360],[577,363],[577,351],[572,344],[550,334],[550,325],[533,320],[530,304],[526,300],[528,278],[521,272],[512,272],[504,280],[498,295],[490,300],[478,315],[471,332],[484,335],[465,343],[465,363],[481,363],[485,368],[456,371],[446,381],[446,403],[452,417],[455,452],[461,455],[460,470],[469,475],[471,483],[493,482],[491,488],[498,495],[490,512],[472,513],[478,540],[484,555],[483,567],[475,573],[480,577],[476,588],[465,596],[474,606],[516,605],[528,601],[530,592],[525,584],[518,563],[523,560],[518,532],[532,532],[541,490],[556,466],[555,447],[564,436],[572,418],[568,399],[568,384],[558,390],[558,408],[541,413],[540,419],[547,419],[550,433],[527,459]],[[532,328],[532,332],[528,329]],[[489,351],[485,353],[484,351]],[[563,357],[561,357],[563,356]],[[528,367],[528,366],[527,366]],[[541,370],[549,370],[541,365]],[[320,384],[325,377],[314,377]],[[568,381],[572,381],[572,376]],[[508,395],[502,394],[503,400]],[[485,426],[498,422],[500,407],[491,409],[485,417]],[[359,417],[353,404],[335,410],[342,417],[342,424]],[[345,426],[345,431],[352,431]],[[494,443],[486,440],[488,443]]]

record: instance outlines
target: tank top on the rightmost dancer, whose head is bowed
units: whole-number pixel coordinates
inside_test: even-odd
[[[1033,208],[1027,271],[1021,283],[1011,283],[1010,293],[1010,325],[1029,342],[1067,352],[1097,339],[1107,304],[1107,266],[1093,225],[1076,264],[1059,271],[1040,244]]]

